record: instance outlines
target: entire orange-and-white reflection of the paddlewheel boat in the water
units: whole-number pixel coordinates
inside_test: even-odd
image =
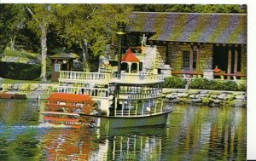
[[[149,134],[150,133],[150,134]],[[83,134],[83,135],[81,135]],[[60,129],[44,135],[47,160],[159,160],[166,128]]]

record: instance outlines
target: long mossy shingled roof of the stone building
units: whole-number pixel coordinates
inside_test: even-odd
[[[133,12],[129,32],[155,33],[149,40],[247,43],[247,14]]]

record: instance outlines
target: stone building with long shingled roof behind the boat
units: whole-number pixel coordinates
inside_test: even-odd
[[[172,74],[204,78],[246,78],[247,14],[134,12],[130,20],[126,42],[143,68],[158,66]],[[215,66],[220,74],[213,74]]]

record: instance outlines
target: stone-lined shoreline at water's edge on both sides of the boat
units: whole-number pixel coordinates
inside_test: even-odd
[[[0,98],[44,100],[57,91],[58,83],[0,83]],[[163,89],[170,103],[208,106],[247,106],[247,92],[207,89]]]

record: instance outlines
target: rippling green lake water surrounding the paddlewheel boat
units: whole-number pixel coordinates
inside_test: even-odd
[[[173,105],[163,127],[40,124],[44,101],[0,100],[0,160],[246,160],[246,109]]]

